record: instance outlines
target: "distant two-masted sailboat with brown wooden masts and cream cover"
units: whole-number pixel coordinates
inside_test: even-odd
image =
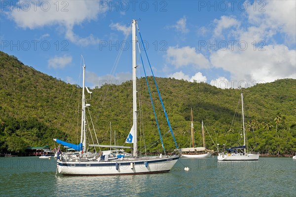
[[[202,127],[202,141],[203,147],[194,147],[194,132],[193,132],[193,116],[192,116],[192,108],[191,108],[191,143],[192,147],[183,148],[182,157],[183,158],[209,158],[211,157],[214,151],[207,150],[205,148],[205,133],[203,129],[203,121],[201,121]]]

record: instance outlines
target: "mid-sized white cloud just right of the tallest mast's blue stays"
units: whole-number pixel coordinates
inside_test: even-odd
[[[194,47],[185,46],[182,48],[168,47],[166,53],[167,61],[173,64],[176,68],[193,65],[197,68],[209,68],[210,62],[206,57],[197,53]]]

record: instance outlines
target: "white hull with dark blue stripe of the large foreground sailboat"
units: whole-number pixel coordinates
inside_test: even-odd
[[[180,156],[123,158],[108,161],[57,161],[58,173],[63,175],[128,175],[168,172]],[[118,165],[116,165],[118,163]],[[118,169],[116,169],[118,168]]]

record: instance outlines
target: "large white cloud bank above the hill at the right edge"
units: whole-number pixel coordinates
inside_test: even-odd
[[[249,86],[275,79],[295,79],[295,50],[289,50],[285,45],[267,45],[262,50],[250,46],[245,51],[217,51],[211,54],[211,63],[229,71],[232,80],[237,83],[244,80]]]

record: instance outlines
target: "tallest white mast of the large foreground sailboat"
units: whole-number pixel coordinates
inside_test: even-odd
[[[136,26],[137,21],[133,19],[132,22],[132,45],[133,45],[133,130],[134,130],[134,152],[133,156],[138,156],[138,140],[137,140],[137,64],[136,64]]]

